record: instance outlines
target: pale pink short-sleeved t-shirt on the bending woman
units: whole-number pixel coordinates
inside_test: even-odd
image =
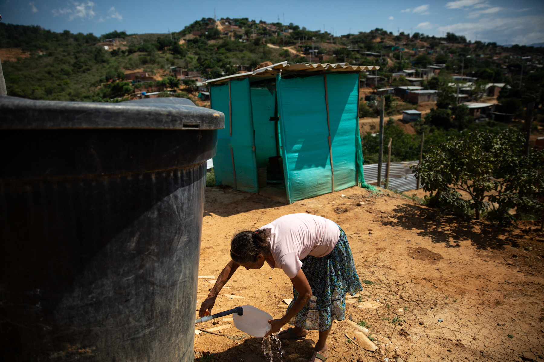
[[[294,278],[308,255],[322,258],[338,243],[340,229],[334,221],[317,215],[290,214],[259,227],[270,231],[270,251],[276,265]]]

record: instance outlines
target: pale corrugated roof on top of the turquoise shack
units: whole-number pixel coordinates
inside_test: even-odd
[[[280,72],[362,72],[362,71],[374,71],[380,69],[377,66],[360,66],[360,65],[350,65],[349,63],[295,63],[289,64],[287,61],[276,63],[268,67],[255,69],[253,72],[239,73],[227,75],[226,77],[210,79],[207,81],[207,84],[217,84],[221,82],[226,82],[230,79],[237,78],[247,78],[250,77],[251,80],[259,80],[275,77],[277,73]]]

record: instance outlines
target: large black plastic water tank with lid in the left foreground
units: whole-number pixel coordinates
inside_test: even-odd
[[[193,360],[224,120],[178,98],[0,97],[0,360]]]

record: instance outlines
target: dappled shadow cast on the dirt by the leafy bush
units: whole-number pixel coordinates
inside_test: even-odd
[[[468,241],[476,249],[501,249],[504,245],[514,245],[518,239],[509,229],[485,221],[449,215],[438,217],[434,209],[423,205],[404,204],[393,211],[398,214],[398,221],[384,221],[384,225],[423,230],[418,232],[419,236],[429,237],[433,243],[442,243],[446,247],[460,247],[461,242]]]

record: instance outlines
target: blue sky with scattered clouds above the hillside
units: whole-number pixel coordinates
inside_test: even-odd
[[[249,17],[326,29],[336,35],[384,28],[442,35],[453,31],[468,40],[499,44],[544,42],[542,0],[454,1],[128,1],[0,0],[6,23],[40,25],[53,31],[100,35],[178,31],[202,17]]]

